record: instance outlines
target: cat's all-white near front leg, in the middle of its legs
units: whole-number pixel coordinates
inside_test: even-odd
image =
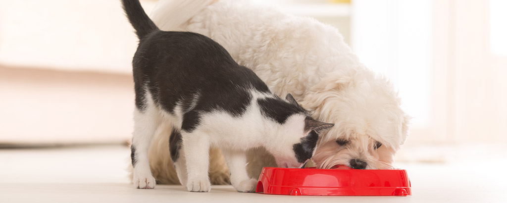
[[[191,133],[183,130],[181,133],[188,173],[187,189],[191,192],[209,192],[209,137],[196,130]]]

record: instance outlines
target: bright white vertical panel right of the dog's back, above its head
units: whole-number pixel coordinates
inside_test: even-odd
[[[430,1],[352,1],[352,49],[399,89],[415,128],[429,121],[430,9]]]

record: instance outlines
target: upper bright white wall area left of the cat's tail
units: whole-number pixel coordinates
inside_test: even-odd
[[[141,1],[150,12],[155,1]],[[0,64],[130,73],[137,38],[119,0],[0,0]]]

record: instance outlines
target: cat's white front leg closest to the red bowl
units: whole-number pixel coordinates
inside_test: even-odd
[[[250,179],[246,173],[246,153],[244,151],[222,150],[231,172],[231,184],[238,192],[253,192],[257,179]]]

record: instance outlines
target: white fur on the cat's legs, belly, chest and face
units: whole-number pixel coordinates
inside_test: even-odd
[[[149,92],[149,91],[147,91]],[[200,115],[195,130],[181,130],[184,110],[176,105],[174,113],[167,113],[158,107],[150,93],[146,95],[146,109],[134,112],[134,132],[132,145],[136,160],[133,168],[133,183],[136,188],[154,188],[155,178],[150,172],[148,147],[159,125],[171,125],[180,130],[182,148],[174,162],[179,182],[189,191],[207,192],[210,190],[208,164],[210,147],[221,149],[231,173],[231,183],[240,192],[251,192],[257,179],[250,179],[246,172],[246,152],[264,147],[275,157],[278,165],[302,167],[298,162],[293,146],[301,142],[309,131],[304,131],[306,115],[294,114],[285,123],[264,116],[258,106],[259,98],[275,96],[250,90],[252,95],[246,111],[239,117],[216,109]],[[192,103],[197,103],[199,94]],[[192,106],[192,105],[191,105]],[[195,106],[195,105],[194,105]],[[190,108],[191,109],[191,108]],[[166,143],[167,144],[167,143]]]

